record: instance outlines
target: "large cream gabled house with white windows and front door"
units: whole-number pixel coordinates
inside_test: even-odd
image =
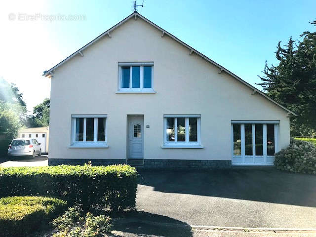
[[[44,72],[50,165],[273,165],[295,113],[133,12]]]

